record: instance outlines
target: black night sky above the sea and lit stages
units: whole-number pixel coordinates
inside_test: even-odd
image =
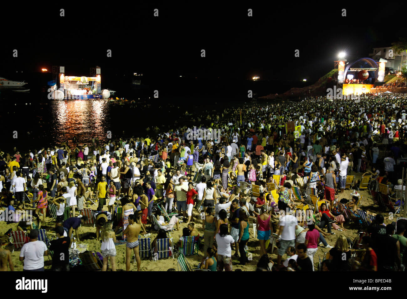
[[[407,25],[397,17],[406,5],[390,2],[385,7],[309,1],[272,6],[251,1],[99,3],[2,7],[0,76],[52,65],[87,75],[99,65],[103,72],[139,70],[162,77],[246,79],[258,74],[262,79],[315,81],[333,68],[338,52],[344,50],[348,61],[367,57],[372,47],[387,47],[407,35]],[[65,17],[59,16],[61,8]],[[153,16],[155,8],[159,17]],[[253,17],[247,16],[249,8]],[[107,49],[112,57],[106,56]],[[300,57],[294,57],[295,49]]]

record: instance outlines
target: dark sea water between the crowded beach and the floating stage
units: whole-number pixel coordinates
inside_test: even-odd
[[[261,96],[284,92],[290,87],[287,83],[274,84],[274,87],[264,82],[245,81],[241,86],[223,83],[202,85],[180,81],[176,87],[166,83],[160,86],[158,99],[153,98],[154,86],[140,91],[111,84],[109,87],[117,91],[114,96],[136,102],[125,105],[107,100],[48,100],[46,85],[28,86],[30,92],[1,88],[0,149],[11,151],[16,146],[22,151],[34,150],[61,141],[72,145],[74,137],[81,143],[88,143],[93,137],[107,140],[108,131],[113,138],[142,136],[149,126],[158,126],[163,131],[180,125],[199,126],[198,117],[205,119],[208,114],[221,114],[225,107],[250,104],[246,96],[248,88],[254,93],[260,92],[258,96]],[[258,88],[260,85],[262,91]],[[195,121],[185,116],[185,111],[192,113]]]

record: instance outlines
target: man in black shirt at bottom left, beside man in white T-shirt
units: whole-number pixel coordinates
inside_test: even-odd
[[[69,271],[69,237],[63,236],[63,227],[55,228],[57,240],[52,240],[49,250],[54,251],[52,258],[53,271]]]

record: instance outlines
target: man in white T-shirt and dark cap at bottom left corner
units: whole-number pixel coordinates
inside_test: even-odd
[[[44,242],[38,241],[38,229],[30,231],[30,242],[23,245],[20,261],[24,261],[23,271],[44,271],[44,255],[48,249]]]

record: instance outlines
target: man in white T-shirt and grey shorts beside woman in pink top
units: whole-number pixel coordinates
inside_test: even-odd
[[[284,214],[282,214],[284,215]],[[281,258],[286,253],[287,248],[290,246],[295,247],[295,229],[298,229],[297,218],[293,215],[280,216],[280,226],[278,227],[277,234],[281,236],[277,242],[280,242],[278,249],[277,265],[281,264]]]

